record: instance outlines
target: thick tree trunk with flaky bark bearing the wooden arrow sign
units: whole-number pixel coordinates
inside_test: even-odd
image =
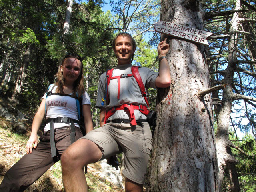
[[[199,1],[162,0],[160,20],[203,28]],[[164,37],[162,36],[162,39]],[[218,192],[212,100],[205,47],[169,38],[170,89],[158,91],[148,192]]]

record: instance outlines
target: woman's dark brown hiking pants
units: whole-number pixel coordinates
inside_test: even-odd
[[[46,133],[50,136],[50,132]],[[75,140],[82,137],[82,132],[76,127]],[[51,157],[50,141],[40,141],[32,153],[25,154],[5,174],[0,185],[0,192],[22,192],[40,178],[54,163],[58,162],[62,153],[70,146],[70,126],[55,130],[56,154]]]

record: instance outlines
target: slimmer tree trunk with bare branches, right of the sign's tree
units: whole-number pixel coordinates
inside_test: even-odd
[[[240,0],[236,0],[235,10],[240,9]],[[230,173],[230,182],[232,186],[232,192],[240,192],[240,186],[238,182],[238,175],[236,173],[235,163],[237,160],[232,156],[230,149],[229,135],[229,121],[232,108],[232,85],[234,78],[234,71],[236,68],[236,54],[237,54],[237,31],[238,30],[238,14],[233,14],[232,21],[230,22],[230,36],[228,42],[228,66],[224,74],[224,83],[227,84],[223,89],[222,105],[218,115],[218,128],[216,132],[216,148],[218,155],[218,166],[221,187],[224,166],[227,165],[228,172]]]

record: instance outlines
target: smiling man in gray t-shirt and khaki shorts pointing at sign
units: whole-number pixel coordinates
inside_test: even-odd
[[[166,39],[158,44],[157,49],[159,73],[139,68],[140,77],[147,88],[170,86],[170,68],[166,60],[169,45]],[[143,191],[152,136],[146,115],[142,113],[147,105],[145,98],[142,97],[136,79],[131,76],[131,60],[136,42],[130,34],[120,33],[113,40],[113,50],[118,66],[112,71],[109,84],[106,84],[106,73],[100,76],[98,84],[96,107],[100,108],[101,127],[86,134],[62,154],[62,175],[66,192],[87,192],[84,166],[120,152],[124,152],[126,192]],[[102,98],[106,102],[102,102]]]

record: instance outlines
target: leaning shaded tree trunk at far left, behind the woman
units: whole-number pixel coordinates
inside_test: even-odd
[[[14,89],[14,92],[12,94],[12,99],[11,100],[16,100],[16,96],[22,92],[24,80],[26,78],[26,70],[28,68],[28,62],[30,60],[30,50],[31,45],[27,46],[27,50],[24,54],[23,61],[22,61],[22,66],[20,67],[20,73],[18,75],[17,81],[16,81],[16,86]]]

